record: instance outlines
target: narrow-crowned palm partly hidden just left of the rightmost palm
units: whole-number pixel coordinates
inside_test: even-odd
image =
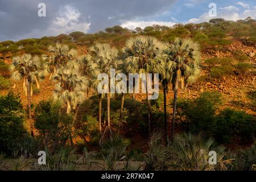
[[[159,73],[160,81],[163,86],[163,94],[164,94],[164,129],[166,135],[166,142],[168,142],[168,125],[167,125],[167,101],[166,95],[168,92],[168,85],[171,84],[174,62],[170,59],[167,59],[166,56],[160,56],[158,64],[155,65],[154,72]]]

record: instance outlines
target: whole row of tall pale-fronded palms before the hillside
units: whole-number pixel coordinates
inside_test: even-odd
[[[45,76],[46,70],[51,74],[50,79],[56,82],[53,94],[54,100],[60,101],[67,109],[67,114],[74,112],[74,121],[79,105],[88,97],[89,89],[97,90],[100,73],[105,73],[111,79],[110,69],[115,73],[159,73],[164,90],[164,123],[166,138],[167,100],[169,85],[174,89],[174,106],[172,120],[172,135],[176,114],[178,88],[183,88],[188,82],[195,81],[199,75],[200,51],[199,46],[189,39],[175,39],[172,43],[162,43],[150,36],[137,36],[127,40],[122,51],[109,44],[96,43],[89,48],[87,55],[78,56],[74,49],[57,43],[50,46],[48,54],[42,59],[31,55],[23,55],[13,59],[13,78],[24,80],[24,90],[28,98],[28,113],[31,121],[31,85],[39,85],[38,78]],[[146,77],[147,74],[146,74]],[[148,78],[147,78],[148,79]],[[108,89],[110,89],[110,84]],[[149,100],[148,81],[146,85],[148,133],[151,132],[151,104]],[[86,94],[87,93],[87,94]],[[107,98],[108,127],[110,123],[110,98],[112,93],[97,93],[99,97],[98,121],[102,130],[101,107],[102,98]],[[125,93],[121,95],[120,120],[122,119]],[[32,125],[30,125],[32,127]]]

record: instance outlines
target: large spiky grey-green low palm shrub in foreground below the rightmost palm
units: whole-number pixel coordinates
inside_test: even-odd
[[[226,170],[233,160],[224,159],[224,150],[222,146],[214,147],[214,139],[204,139],[202,134],[179,134],[170,146],[170,166],[179,171]],[[209,164],[209,151],[216,151],[217,164]]]

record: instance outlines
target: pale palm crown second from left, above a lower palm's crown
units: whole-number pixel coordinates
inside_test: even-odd
[[[43,55],[43,60],[46,61],[48,72],[51,73],[49,80],[55,73],[63,67],[75,67],[75,60],[77,57],[77,51],[75,49],[69,49],[65,44],[56,43],[56,46],[48,47],[49,54]]]

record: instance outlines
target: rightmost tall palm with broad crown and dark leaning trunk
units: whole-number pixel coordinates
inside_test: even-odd
[[[181,89],[188,82],[196,80],[200,74],[200,50],[199,45],[190,39],[174,40],[174,43],[167,44],[164,50],[167,60],[173,61],[172,64],[172,88],[174,89],[174,105],[172,118],[171,140],[174,135],[174,123],[176,119],[177,92],[179,85]]]

